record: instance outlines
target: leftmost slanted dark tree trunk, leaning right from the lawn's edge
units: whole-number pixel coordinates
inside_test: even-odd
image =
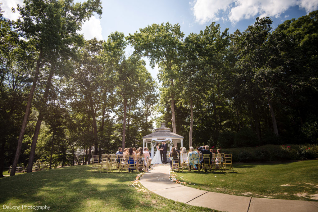
[[[30,94],[29,94],[28,102],[26,104],[25,114],[24,114],[24,118],[23,118],[23,122],[22,122],[21,131],[20,131],[20,134],[19,134],[17,150],[16,150],[16,154],[14,156],[14,160],[13,160],[10,176],[14,176],[16,174],[16,168],[17,168],[17,164],[18,164],[18,161],[19,161],[20,153],[21,153],[21,147],[22,147],[22,141],[23,141],[23,137],[24,137],[24,133],[25,133],[25,128],[26,128],[26,124],[28,122],[28,118],[29,118],[29,115],[30,115],[30,109],[31,109],[31,103],[32,103],[32,99],[33,99],[33,93],[34,93],[35,86],[36,86],[37,81],[38,81],[39,70],[40,70],[40,62],[42,60],[42,54],[43,54],[43,50],[41,49],[41,51],[39,53],[38,60],[37,60],[37,66],[36,66],[36,69],[35,69],[34,80],[33,80],[33,83],[32,83],[32,87],[31,87],[31,91],[30,91]]]

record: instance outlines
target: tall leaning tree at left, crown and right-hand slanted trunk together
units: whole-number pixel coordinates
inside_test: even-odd
[[[45,51],[47,57],[49,57],[51,67],[45,86],[45,92],[43,94],[42,106],[39,109],[39,117],[33,135],[27,172],[32,172],[35,147],[38,140],[41,122],[43,120],[43,110],[45,109],[58,58],[61,59],[62,57],[71,56],[72,46],[78,45],[81,38],[77,31],[81,28],[82,22],[91,17],[93,12],[97,12],[98,15],[101,15],[100,4],[100,0],[76,4],[73,3],[73,0],[69,0],[53,1],[48,2],[46,5],[42,5],[45,7],[44,12],[48,17],[47,22],[50,24],[50,28],[47,29],[48,32],[50,32],[50,39],[54,40],[55,43],[53,44],[52,49],[47,52]],[[63,75],[63,73],[60,74]]]

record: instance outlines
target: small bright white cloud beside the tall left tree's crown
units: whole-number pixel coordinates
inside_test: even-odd
[[[100,19],[92,16],[89,20],[87,20],[80,31],[84,35],[86,40],[90,40],[92,38],[97,38],[97,40],[102,40],[103,36],[101,34],[101,25]]]

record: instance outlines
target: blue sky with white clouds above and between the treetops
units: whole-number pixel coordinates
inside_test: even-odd
[[[83,0],[75,0],[81,1]],[[17,19],[11,7],[23,4],[23,0],[1,0],[4,17]],[[125,35],[153,23],[179,23],[185,36],[199,33],[212,22],[220,24],[221,30],[229,28],[244,31],[255,22],[256,17],[269,16],[276,28],[285,20],[298,18],[318,9],[318,0],[102,0],[103,14],[84,23],[82,33],[86,39],[96,37],[106,40],[114,31]],[[128,48],[127,53],[132,53]],[[149,64],[148,59],[146,62]],[[158,69],[147,68],[156,79]]]

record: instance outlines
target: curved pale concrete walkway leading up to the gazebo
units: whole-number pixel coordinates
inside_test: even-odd
[[[169,169],[169,164],[156,164],[141,177],[140,182],[150,191],[165,198],[220,211],[318,212],[318,202],[236,196],[183,186],[169,180]]]

